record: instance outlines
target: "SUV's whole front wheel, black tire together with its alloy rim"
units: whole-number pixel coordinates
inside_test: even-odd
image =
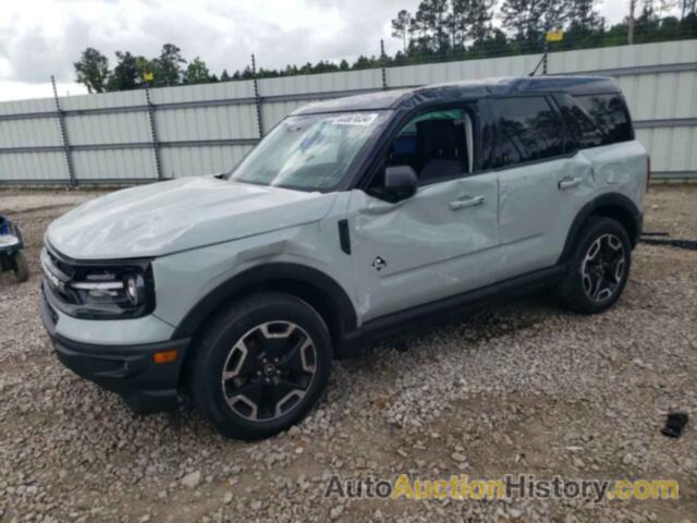
[[[288,328],[290,335],[271,332],[281,328]],[[303,337],[309,338],[311,346]],[[294,349],[286,351],[284,344]],[[246,440],[273,436],[307,415],[327,386],[332,360],[329,330],[319,314],[295,296],[272,292],[244,297],[222,309],[192,349],[196,353],[188,385],[194,404],[221,434]],[[277,374],[267,375],[273,364],[260,362],[267,357],[278,362],[270,356],[279,354]],[[306,368],[314,368],[314,374]],[[224,380],[223,373],[235,377]],[[301,385],[292,390],[291,382]],[[250,394],[243,394],[247,389]],[[277,402],[282,393],[286,400]],[[295,401],[282,411],[283,401],[291,400]],[[269,409],[274,412],[271,417],[265,415]]]

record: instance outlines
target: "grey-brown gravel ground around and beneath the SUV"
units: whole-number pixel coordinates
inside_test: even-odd
[[[697,187],[660,186],[646,230],[697,239]],[[0,275],[0,521],[697,521],[697,252],[639,245],[624,296],[583,317],[546,297],[487,308],[335,365],[276,438],[225,440],[184,405],[138,417],[63,368],[38,316],[46,226],[94,192],[0,191],[34,271]],[[405,344],[406,352],[395,346]],[[340,500],[328,479],[674,478],[678,501]]]

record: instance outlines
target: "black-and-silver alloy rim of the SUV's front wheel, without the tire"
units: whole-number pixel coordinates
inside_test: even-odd
[[[317,349],[310,336],[292,321],[267,321],[232,345],[221,386],[236,415],[270,422],[299,404],[316,374]]]

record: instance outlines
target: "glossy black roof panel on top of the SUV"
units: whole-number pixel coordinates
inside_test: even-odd
[[[411,109],[421,104],[448,102],[486,96],[526,95],[534,93],[568,93],[591,95],[620,93],[614,80],[607,76],[522,76],[472,80],[427,85],[407,89],[390,89],[310,104],[292,114],[318,112]]]

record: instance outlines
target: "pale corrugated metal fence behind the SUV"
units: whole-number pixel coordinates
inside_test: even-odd
[[[383,88],[528,74],[539,54],[0,104],[0,184],[121,184],[232,168],[285,114]],[[614,76],[656,179],[697,180],[697,40],[552,53]]]

